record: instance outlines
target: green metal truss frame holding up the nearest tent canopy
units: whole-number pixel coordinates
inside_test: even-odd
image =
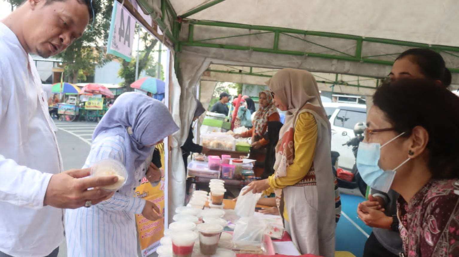
[[[144,2],[147,0],[140,0],[140,4],[145,7],[146,10],[151,10],[148,5]],[[223,2],[224,0],[213,0],[204,5],[196,7],[195,9],[188,11],[182,16],[177,16],[176,12],[174,11],[173,5],[169,2],[169,0],[161,0],[161,11],[162,16],[154,18],[157,22],[158,26],[164,31],[167,37],[174,43],[174,50],[175,53],[178,54],[182,51],[184,46],[191,46],[191,47],[206,47],[206,48],[221,48],[221,49],[232,49],[232,50],[243,50],[243,51],[254,51],[254,52],[262,52],[262,53],[271,53],[271,54],[286,54],[286,55],[294,55],[294,56],[310,56],[310,57],[318,57],[318,58],[325,58],[325,59],[338,59],[338,60],[345,60],[345,61],[353,61],[353,62],[363,62],[363,63],[370,63],[370,64],[383,64],[383,65],[390,65],[392,66],[393,61],[387,61],[382,59],[375,59],[381,58],[383,56],[397,56],[400,53],[391,53],[391,54],[381,54],[381,55],[373,55],[373,56],[363,56],[363,43],[370,42],[370,43],[382,43],[388,45],[396,45],[396,46],[405,46],[411,48],[430,48],[437,53],[445,53],[451,55],[453,57],[459,58],[459,47],[453,46],[442,46],[442,45],[429,45],[424,43],[415,43],[415,42],[408,42],[408,41],[400,41],[400,40],[392,40],[392,39],[384,39],[384,38],[375,38],[375,37],[360,37],[355,35],[347,35],[347,34],[339,34],[339,33],[330,33],[330,32],[317,32],[317,31],[304,31],[298,29],[291,29],[291,28],[282,28],[282,27],[269,27],[269,26],[253,26],[253,25],[246,25],[240,23],[230,23],[230,22],[220,22],[220,21],[199,21],[199,20],[192,20],[188,19],[187,17],[192,16],[200,11],[206,10],[207,8],[212,7],[213,5],[217,5],[218,3]],[[153,13],[153,11],[151,11]],[[169,23],[172,25],[172,31],[169,31],[168,27],[165,23],[166,16],[175,17],[173,20],[170,19]],[[180,40],[180,30],[182,24],[189,24],[187,40]],[[226,27],[226,28],[235,28],[241,29],[241,33],[235,33],[233,36],[228,37],[215,37],[215,38],[207,38],[202,40],[195,40],[194,39],[194,28],[195,26],[209,26],[209,27]],[[256,33],[245,33],[242,30],[255,30],[260,31]],[[265,34],[265,33],[274,33],[274,40],[273,40],[273,47],[272,48],[260,48],[260,47],[252,47],[252,46],[244,46],[244,45],[233,45],[233,44],[216,44],[216,43],[208,43],[210,40],[215,39],[223,39],[223,38],[230,38],[230,37],[246,37],[251,35],[257,34]],[[317,45],[321,48],[325,48],[334,52],[334,54],[322,54],[316,52],[302,52],[302,51],[295,51],[289,49],[280,49],[279,42],[280,36],[288,36],[293,37],[298,40],[312,43]],[[321,45],[319,43],[314,43],[312,41],[308,41],[303,39],[305,35],[310,36],[318,36],[318,37],[328,37],[331,39],[339,38],[339,39],[347,39],[355,41],[355,53],[348,54],[341,52],[338,49],[330,48],[325,45]],[[184,38],[184,37],[182,37]],[[179,69],[179,60],[175,59],[175,68],[178,72]],[[459,68],[449,68],[453,73],[459,73]],[[348,85],[349,86],[349,85]]]

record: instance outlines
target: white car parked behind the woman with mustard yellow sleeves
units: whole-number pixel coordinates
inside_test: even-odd
[[[331,150],[340,154],[339,166],[352,171],[355,156],[352,147],[343,145],[354,138],[354,126],[358,122],[366,123],[367,107],[364,104],[324,102],[325,111],[331,124]],[[346,135],[343,135],[346,132]]]

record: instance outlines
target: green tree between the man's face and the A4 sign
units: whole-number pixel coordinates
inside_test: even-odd
[[[24,2],[24,0],[7,1],[14,8]],[[112,56],[106,54],[106,45],[113,2],[110,0],[93,0],[92,4],[98,10],[94,23],[90,21],[83,36],[56,56],[62,59],[65,80],[71,83],[86,80],[86,76],[94,75],[96,65],[103,66],[112,60]]]

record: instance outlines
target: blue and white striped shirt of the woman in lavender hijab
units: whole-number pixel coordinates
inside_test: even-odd
[[[95,140],[84,168],[97,161],[111,158],[124,162],[123,137],[111,136]],[[151,155],[153,150],[151,152]],[[131,184],[120,188],[112,198],[90,208],[67,209],[68,257],[136,257],[137,232],[134,214],[141,214],[146,201],[134,198],[135,187],[140,185],[151,158],[135,171]]]

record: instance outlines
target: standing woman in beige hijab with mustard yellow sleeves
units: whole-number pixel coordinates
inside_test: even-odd
[[[302,254],[334,257],[331,130],[317,83],[308,71],[284,69],[268,86],[276,107],[286,111],[285,123],[276,146],[274,175],[251,182],[250,189],[265,194],[274,190],[285,229]]]

